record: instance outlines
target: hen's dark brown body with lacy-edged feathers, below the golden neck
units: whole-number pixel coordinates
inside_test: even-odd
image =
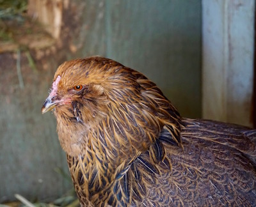
[[[84,187],[96,206],[256,206],[255,130],[215,121],[183,121],[183,148],[166,141],[169,135],[163,134],[150,151],[154,151],[156,160],[148,152],[142,153],[110,187],[108,180],[102,182],[101,188],[107,187],[102,194],[101,188],[95,189],[100,187],[99,181],[89,188],[83,179],[79,181],[77,169],[83,169],[84,157],[68,156],[79,199],[88,204]],[[86,177],[89,183],[97,179]]]

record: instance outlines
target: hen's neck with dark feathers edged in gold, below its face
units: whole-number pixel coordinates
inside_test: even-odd
[[[113,190],[115,182],[122,179],[141,153],[154,151],[152,146],[159,149],[161,130],[173,142],[180,142],[179,114],[170,102],[161,102],[157,103],[161,107],[150,109],[145,109],[144,102],[109,104],[107,116],[92,119],[93,123],[85,123],[83,116],[82,121],[77,120],[75,112],[68,110],[54,113],[77,195],[99,200],[110,188]],[[152,158],[159,162],[163,157]]]

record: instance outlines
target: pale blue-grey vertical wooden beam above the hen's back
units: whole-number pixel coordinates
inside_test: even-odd
[[[252,126],[254,0],[202,1],[203,118]]]

